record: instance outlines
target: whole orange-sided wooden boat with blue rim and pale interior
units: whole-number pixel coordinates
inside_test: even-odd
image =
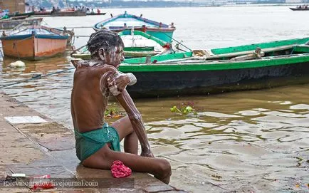
[[[68,35],[46,26],[22,26],[9,35],[2,34],[4,56],[40,60],[66,51]]]

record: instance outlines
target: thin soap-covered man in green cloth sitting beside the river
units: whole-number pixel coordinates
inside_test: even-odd
[[[132,73],[117,71],[124,60],[123,48],[117,33],[100,30],[88,41],[91,61],[74,63],[71,113],[76,155],[85,167],[110,169],[113,161],[120,160],[133,171],[153,174],[168,184],[171,166],[167,160],[152,155],[140,112],[125,89],[136,78]],[[127,113],[111,127],[104,122],[109,95],[114,95]],[[120,152],[123,139],[125,152]]]

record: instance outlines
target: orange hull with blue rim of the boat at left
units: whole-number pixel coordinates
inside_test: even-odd
[[[25,35],[14,38],[2,38],[4,56],[41,60],[66,51],[68,37],[52,38],[42,35]]]

